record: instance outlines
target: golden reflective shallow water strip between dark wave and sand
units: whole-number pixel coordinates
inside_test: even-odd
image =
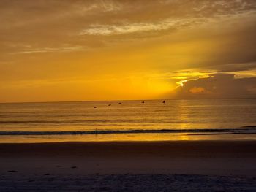
[[[1,136],[4,142],[126,142],[126,141],[187,141],[187,140],[256,140],[255,134],[223,135],[188,135],[188,134],[109,134],[109,135],[75,135],[75,136]]]

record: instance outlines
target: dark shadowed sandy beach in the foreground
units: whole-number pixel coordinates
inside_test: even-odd
[[[0,144],[0,191],[256,191],[256,142]]]

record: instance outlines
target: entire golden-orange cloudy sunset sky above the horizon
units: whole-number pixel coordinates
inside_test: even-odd
[[[255,0],[1,0],[0,102],[256,98]]]

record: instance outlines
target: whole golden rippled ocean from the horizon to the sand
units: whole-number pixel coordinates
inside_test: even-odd
[[[190,139],[256,139],[256,99],[0,104],[0,142]]]

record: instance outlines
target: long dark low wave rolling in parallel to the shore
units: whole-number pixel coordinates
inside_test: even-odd
[[[256,134],[256,128],[151,129],[94,131],[0,131],[0,135],[89,135],[89,134]]]

